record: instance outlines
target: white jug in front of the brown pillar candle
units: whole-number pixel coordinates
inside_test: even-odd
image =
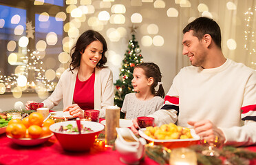
[[[115,141],[120,160],[125,164],[139,164],[145,155],[146,140],[137,138],[129,128],[116,128],[118,137]]]

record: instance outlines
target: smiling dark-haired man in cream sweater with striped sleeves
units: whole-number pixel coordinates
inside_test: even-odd
[[[224,57],[220,27],[213,19],[195,19],[183,34],[182,54],[192,66],[180,70],[164,106],[149,116],[158,125],[173,122],[193,128],[206,139],[217,135],[225,144],[255,144],[255,71]],[[131,129],[136,132],[137,127],[134,120]]]

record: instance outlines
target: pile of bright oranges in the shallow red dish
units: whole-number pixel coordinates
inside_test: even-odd
[[[51,135],[49,126],[54,124],[54,120],[47,119],[43,122],[41,113],[33,112],[28,117],[20,119],[12,119],[6,128],[6,134],[14,138],[32,138],[45,137]]]

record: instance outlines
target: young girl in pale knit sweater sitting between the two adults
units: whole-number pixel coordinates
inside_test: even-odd
[[[127,94],[121,111],[125,118],[134,119],[158,111],[164,104],[161,72],[155,63],[140,63],[131,80],[136,93]]]

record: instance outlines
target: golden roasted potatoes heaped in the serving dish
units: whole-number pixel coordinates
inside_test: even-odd
[[[190,129],[176,126],[173,123],[163,124],[162,126],[148,126],[144,132],[149,137],[156,140],[171,140],[171,139],[189,139],[193,138]]]

